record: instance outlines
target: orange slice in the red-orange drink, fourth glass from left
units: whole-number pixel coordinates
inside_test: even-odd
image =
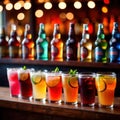
[[[58,85],[58,83],[60,82],[60,77],[56,76],[56,77],[53,77],[53,76],[48,76],[47,80],[46,80],[46,83],[48,85],[48,87],[55,87]]]

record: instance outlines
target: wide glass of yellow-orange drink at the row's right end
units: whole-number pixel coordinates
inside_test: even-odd
[[[98,102],[103,107],[113,107],[114,91],[116,88],[115,73],[101,73],[96,75]]]

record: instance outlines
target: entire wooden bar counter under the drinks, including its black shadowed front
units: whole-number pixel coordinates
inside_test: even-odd
[[[12,98],[8,87],[0,87],[0,120],[120,120],[120,98],[113,109],[42,103]]]

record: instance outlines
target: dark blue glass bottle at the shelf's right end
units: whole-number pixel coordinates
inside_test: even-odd
[[[113,23],[112,37],[109,41],[109,60],[110,62],[120,62],[120,32],[118,23]]]

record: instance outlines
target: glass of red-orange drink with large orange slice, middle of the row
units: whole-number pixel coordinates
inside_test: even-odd
[[[46,73],[48,101],[60,103],[62,100],[62,79],[60,73]]]

